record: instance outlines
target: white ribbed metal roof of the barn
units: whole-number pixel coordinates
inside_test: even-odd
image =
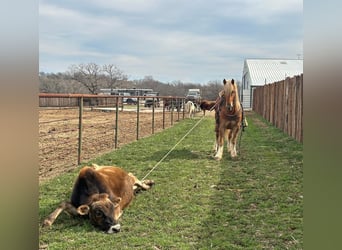
[[[303,59],[246,59],[244,72],[250,85],[264,85],[303,73]]]

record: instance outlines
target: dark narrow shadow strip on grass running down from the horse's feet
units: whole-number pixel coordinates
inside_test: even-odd
[[[251,238],[245,235],[250,223],[246,216],[249,208],[243,201],[245,187],[240,183],[246,177],[239,161],[229,156],[222,159],[220,169],[220,180],[212,186],[212,207],[210,216],[203,222],[198,249],[246,249]]]

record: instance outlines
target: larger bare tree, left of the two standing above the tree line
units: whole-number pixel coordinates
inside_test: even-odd
[[[71,65],[70,73],[73,80],[85,86],[91,94],[96,94],[100,88],[102,69],[96,63]]]

